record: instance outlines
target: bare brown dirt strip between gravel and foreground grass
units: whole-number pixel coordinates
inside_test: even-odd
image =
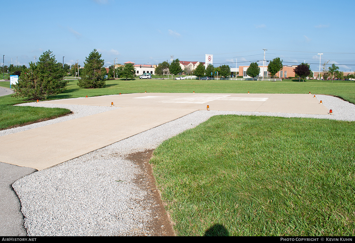
[[[153,236],[175,236],[170,216],[165,211],[160,192],[155,185],[152,167],[149,164],[153,151],[154,149],[148,149],[143,152],[132,153],[127,155],[126,159],[138,165],[142,171],[141,174],[136,175],[135,183],[148,193],[145,203],[152,209],[152,221],[149,225],[151,234]]]

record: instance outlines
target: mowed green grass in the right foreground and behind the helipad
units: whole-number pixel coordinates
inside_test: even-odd
[[[249,91],[329,94],[355,103],[353,81],[333,82],[136,79],[80,89],[70,81],[51,99]],[[22,102],[0,97],[0,109]],[[354,138],[355,122],[215,116],[166,140],[150,163],[177,235],[354,236]]]

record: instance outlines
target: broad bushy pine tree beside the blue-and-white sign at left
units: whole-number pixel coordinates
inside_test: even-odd
[[[18,83],[13,87],[16,92],[15,97],[42,100],[65,90],[68,83],[63,81],[65,72],[50,50],[45,51],[36,64],[31,62],[29,66],[26,72],[21,72]]]

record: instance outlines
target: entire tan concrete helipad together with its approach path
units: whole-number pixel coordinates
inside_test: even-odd
[[[196,110],[327,114],[311,94],[141,93],[44,101],[121,109],[0,137],[0,161],[42,170]]]

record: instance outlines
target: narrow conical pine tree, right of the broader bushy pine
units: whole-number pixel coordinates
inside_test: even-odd
[[[100,59],[101,54],[94,49],[84,62],[84,69],[80,74],[77,85],[80,88],[103,88],[106,84],[106,69],[103,68],[104,60]]]

